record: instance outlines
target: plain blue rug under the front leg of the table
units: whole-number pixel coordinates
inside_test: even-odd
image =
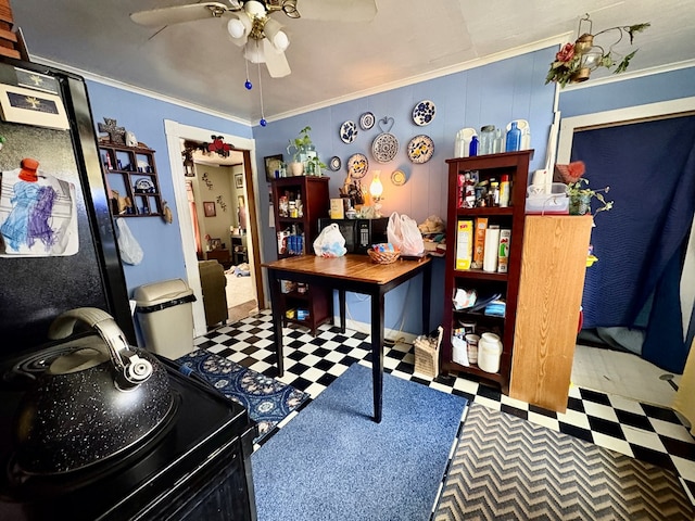
[[[428,520],[466,399],[353,364],[251,457],[258,519]]]

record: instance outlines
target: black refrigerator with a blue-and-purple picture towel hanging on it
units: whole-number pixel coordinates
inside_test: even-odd
[[[45,343],[55,316],[85,306],[135,343],[84,79],[4,60],[0,99],[0,355]]]

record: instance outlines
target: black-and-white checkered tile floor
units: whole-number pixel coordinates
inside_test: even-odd
[[[195,339],[199,348],[277,378],[273,360],[273,323],[269,310],[227,325]],[[323,326],[316,338],[304,329],[285,329],[285,374],[278,380],[318,396],[354,363],[371,361],[369,335]],[[469,402],[502,410],[586,442],[648,461],[678,472],[695,503],[695,439],[677,415],[628,398],[572,386],[567,412],[558,414],[503,395],[498,390],[468,378],[413,374],[414,354],[409,344],[384,350],[384,370]],[[473,378],[473,377],[470,377]],[[294,411],[277,429],[291,421]],[[270,436],[266,437],[266,441]]]

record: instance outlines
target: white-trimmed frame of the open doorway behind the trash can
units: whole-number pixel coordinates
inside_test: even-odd
[[[203,298],[200,283],[200,271],[198,268],[198,254],[197,242],[193,233],[193,221],[189,211],[188,196],[186,193],[186,179],[184,161],[182,161],[182,143],[185,141],[198,141],[207,142],[210,137],[215,135],[224,135],[216,130],[202,129],[198,127],[191,127],[181,125],[177,122],[165,120],[165,134],[167,139],[167,148],[169,153],[169,164],[172,166],[172,178],[174,182],[174,192],[176,196],[176,218],[179,225],[179,231],[181,236],[181,247],[184,251],[184,260],[186,263],[186,274],[188,278],[188,284],[195,295],[195,302],[193,303],[193,329],[194,335],[201,336],[207,332],[207,326],[205,323],[205,312],[203,307]],[[261,251],[262,251],[262,236],[260,234],[260,221],[256,208],[258,207],[257,199],[257,181],[254,175],[257,171],[255,165],[255,141],[249,138],[241,138],[238,136],[225,136],[225,140],[228,143],[232,143],[235,150],[241,153],[243,157],[242,169],[240,171],[242,176],[242,185],[244,188],[245,209],[247,209],[247,256],[249,264],[249,277],[251,280],[251,287],[255,293],[255,300],[258,308],[263,309],[267,307],[265,302],[265,293],[263,289],[263,278],[261,274]],[[233,182],[233,181],[232,181]],[[201,208],[201,212],[203,208]],[[223,242],[231,243],[231,233],[228,239]]]

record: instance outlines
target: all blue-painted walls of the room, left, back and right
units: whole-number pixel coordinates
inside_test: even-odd
[[[451,74],[440,78],[397,88],[388,92],[367,96],[354,101],[336,104],[306,114],[271,122],[267,127],[244,125],[220,117],[211,116],[153,98],[117,89],[97,81],[88,81],[94,126],[104,117],[116,118],[118,125],[136,134],[139,141],[147,143],[155,155],[160,182],[164,199],[173,211],[174,188],[164,134],[164,119],[184,125],[215,129],[229,135],[255,138],[260,187],[265,186],[262,158],[266,155],[283,153],[288,140],[294,138],[306,125],[312,127],[312,137],[325,163],[337,155],[343,168],[327,171],[330,177],[330,193],[338,196],[346,170],[344,165],[350,155],[363,153],[370,160],[370,169],[381,169],[384,180],[384,215],[396,211],[409,215],[421,223],[430,215],[446,215],[446,165],[444,161],[453,155],[454,137],[464,127],[480,128],[485,124],[504,126],[511,119],[529,120],[532,132],[532,148],[535,155],[531,170],[540,168],[545,161],[547,132],[553,119],[554,86],[545,86],[547,65],[554,58],[555,49],[545,49],[514,59],[504,60],[475,69]],[[658,75],[561,91],[559,110],[563,117],[601,112],[624,106],[653,103],[695,96],[695,67],[662,73]],[[437,105],[434,120],[424,127],[413,123],[413,106],[420,100],[431,100]],[[345,120],[358,122],[365,112],[374,113],[377,119],[384,116],[394,118],[393,134],[400,142],[395,160],[389,164],[378,164],[371,156],[371,142],[380,132],[378,123],[370,130],[359,130],[351,144],[343,143],[338,136],[340,125]],[[406,154],[407,142],[416,135],[425,134],[434,141],[433,157],[426,164],[415,165]],[[389,178],[394,169],[403,169],[407,182],[393,186]],[[364,181],[368,183],[370,174]],[[269,187],[268,187],[269,191]],[[263,188],[261,188],[263,195]],[[262,258],[276,258],[275,229],[268,221],[267,198],[260,198],[262,207],[258,215],[264,236]],[[144,250],[144,259],[138,266],[125,266],[128,288],[134,288],[167,278],[185,278],[184,255],[176,219],[166,225],[157,218],[128,219],[127,224]],[[412,285],[412,288],[410,288]],[[420,330],[419,291],[420,280],[404,284],[387,295],[387,327],[408,332]],[[432,326],[441,321],[444,305],[444,262],[433,260]],[[357,321],[369,321],[368,306],[361,305],[364,297],[349,295],[350,317]],[[402,302],[406,302],[402,305]]]

